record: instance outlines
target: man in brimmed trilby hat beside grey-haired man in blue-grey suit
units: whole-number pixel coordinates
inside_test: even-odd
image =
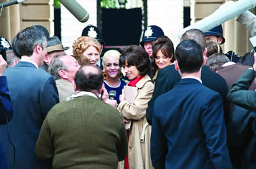
[[[64,50],[68,50],[69,47],[63,47],[60,39],[57,36],[52,36],[47,40],[47,55],[44,57],[44,65],[40,66],[40,70],[47,71],[48,66],[54,55],[65,53]]]

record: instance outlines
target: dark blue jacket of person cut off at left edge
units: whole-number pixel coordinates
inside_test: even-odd
[[[13,116],[13,111],[12,111],[12,105],[11,105],[11,99],[10,99],[10,94],[8,91],[8,85],[7,85],[7,80],[6,77],[0,77],[0,124],[6,124],[6,117],[8,119],[8,122],[12,119]],[[0,137],[1,137],[0,133]],[[6,169],[6,162],[4,158],[4,152],[2,145],[0,143],[0,168],[1,169]]]

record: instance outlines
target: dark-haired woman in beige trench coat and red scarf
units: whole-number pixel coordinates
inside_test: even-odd
[[[150,69],[148,54],[141,47],[129,46],[120,56],[120,65],[124,67],[125,74],[131,80],[127,85],[136,89],[132,103],[125,100],[127,96],[123,90],[117,108],[125,121],[131,122],[128,142],[129,169],[152,169],[150,158],[151,126],[147,123],[146,109],[154,91],[154,84],[147,75]],[[124,169],[124,161],[118,164],[118,169]]]

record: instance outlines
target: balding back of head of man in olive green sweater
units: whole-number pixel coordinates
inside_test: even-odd
[[[99,91],[103,84],[103,73],[97,66],[84,65],[75,75],[78,91]]]

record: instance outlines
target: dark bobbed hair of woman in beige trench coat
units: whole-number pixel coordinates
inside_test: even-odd
[[[150,70],[150,61],[148,53],[137,45],[131,45],[124,48],[124,52],[120,55],[119,64],[120,66],[125,65],[127,61],[128,66],[136,66],[140,75],[147,75]]]

